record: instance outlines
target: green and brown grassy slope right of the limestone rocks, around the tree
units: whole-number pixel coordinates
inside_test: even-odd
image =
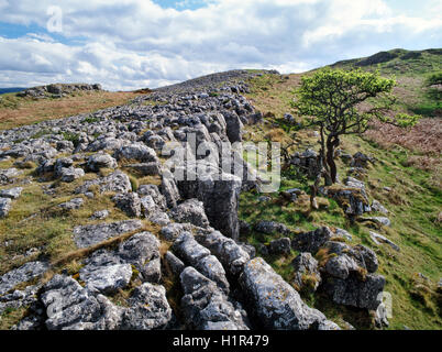
[[[396,74],[402,91],[397,97],[407,109],[410,110],[412,106],[404,97],[412,96],[418,106],[426,103],[421,102],[423,92],[419,85],[431,73],[441,69],[440,51],[426,51],[419,57],[406,51],[393,53],[398,56],[388,62],[360,67],[367,70],[379,68],[386,76]],[[361,62],[364,63],[364,59],[338,63],[333,67],[351,68]],[[408,67],[410,72],[404,67]],[[290,106],[300,77],[301,75],[264,75],[251,81],[252,91],[248,98],[264,113],[266,123],[264,127],[247,128],[246,139],[272,140],[281,142],[283,145],[296,141],[291,152],[301,152],[307,147],[319,148],[314,131],[289,131],[281,120],[284,113],[289,112],[297,122],[302,121]],[[411,79],[413,84],[405,85],[407,79]],[[310,212],[307,196],[300,197],[295,204],[288,204],[278,194],[269,195],[268,201],[259,200],[262,195],[243,194],[241,218],[250,223],[257,220],[284,222],[295,231],[311,230],[319,226],[347,230],[353,235],[353,244],[363,243],[378,255],[379,273],[387,279],[385,289],[393,296],[390,329],[441,329],[441,296],[435,294],[442,276],[441,120],[424,119],[408,131],[390,129],[385,132],[385,127],[379,124],[373,128],[362,138],[344,136],[340,147],[352,155],[362,152],[376,158],[367,174],[360,178],[366,183],[371,200],[377,199],[389,210],[391,228],[382,227],[375,231],[398,244],[400,252],[388,245],[377,246],[369,238],[368,231],[373,230],[369,224],[350,222],[331,199],[320,198],[320,210]],[[343,179],[347,172],[349,167],[339,161],[340,178]],[[298,187],[308,193],[310,184],[303,177],[285,173],[281,189]],[[243,240],[259,248],[259,243],[268,243],[273,238],[252,232]],[[287,256],[270,256],[266,260],[290,280],[294,275],[290,263],[297,254],[292,252]],[[372,317],[363,311],[330,304],[322,295],[305,296],[305,299],[339,323],[345,320],[360,329],[373,328]]]

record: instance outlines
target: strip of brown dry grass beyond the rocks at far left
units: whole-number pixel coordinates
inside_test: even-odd
[[[140,95],[132,91],[100,91],[82,92],[63,99],[31,100],[16,98],[16,108],[0,108],[0,130],[124,105]]]

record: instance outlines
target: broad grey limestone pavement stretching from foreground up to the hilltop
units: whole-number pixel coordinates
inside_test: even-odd
[[[255,75],[228,73],[223,79],[233,80],[223,86],[220,75],[208,76],[190,88],[184,84],[157,89],[130,106],[0,131],[0,160],[20,158],[16,167],[35,163],[30,182],[43,182],[45,195],[60,197],[57,215],[88,211],[85,223],[73,231],[78,251],[70,254],[78,255],[78,267],[54,267],[58,274],[46,285],[36,279],[49,268],[41,262],[4,274],[0,312],[30,307],[16,329],[338,329],[320,311],[309,308],[268,264],[255,258],[254,246],[239,243],[240,193],[263,180],[252,177],[256,176],[254,169],[237,151],[226,153],[233,161],[231,169],[222,167],[217,160],[222,153],[213,145],[231,146],[242,140],[243,124],[263,120],[241,96],[248,89],[241,79]],[[196,145],[186,148],[189,133],[195,133]],[[159,157],[167,142],[192,153],[211,144],[206,154],[183,157],[172,167]],[[186,170],[184,178],[179,177],[181,168]],[[2,169],[0,183],[24,189],[24,176],[13,168]],[[84,176],[84,182],[78,179]],[[75,182],[76,187],[63,182]],[[71,197],[73,188],[78,196]],[[60,195],[65,189],[69,196]],[[10,204],[16,195],[16,189],[1,190],[0,198]],[[89,206],[96,200],[97,209],[92,210]],[[102,221],[108,217],[113,222]],[[115,222],[128,218],[140,220]],[[147,226],[155,233],[141,232]],[[252,231],[251,227],[242,228]],[[255,230],[277,235],[269,245],[275,255],[298,248],[314,253],[330,240],[322,229],[296,237],[276,222],[262,221]],[[372,275],[376,266],[372,253],[357,253]],[[361,266],[360,258],[354,261]],[[306,276],[318,274],[316,265],[307,252],[294,262],[302,283]],[[349,265],[347,276],[323,270],[327,284],[334,273],[351,285],[355,267]],[[37,284],[31,285],[34,280]],[[170,284],[173,290],[166,293]],[[16,285],[27,287],[14,290]],[[361,295],[364,289],[360,288]],[[338,288],[330,293],[335,292]],[[340,297],[349,302],[352,299]]]

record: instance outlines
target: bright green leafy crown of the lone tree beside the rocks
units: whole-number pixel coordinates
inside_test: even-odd
[[[325,134],[341,135],[362,133],[373,118],[386,120],[385,112],[394,100],[388,94],[396,85],[394,79],[383,78],[378,73],[357,70],[332,70],[325,68],[305,76],[294,102],[299,114],[314,117],[313,123],[322,125]],[[361,103],[383,96],[371,109],[360,109]],[[416,123],[417,119],[398,116],[400,125]]]

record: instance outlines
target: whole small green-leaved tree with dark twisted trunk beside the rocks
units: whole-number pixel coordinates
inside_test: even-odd
[[[295,107],[300,116],[312,118],[311,122],[319,127],[321,136],[319,163],[323,169],[316,180],[312,199],[322,176],[328,186],[336,182],[334,152],[342,135],[364,133],[368,122],[375,118],[400,127],[417,122],[418,117],[404,113],[387,116],[395,105],[391,95],[395,85],[394,79],[361,69],[327,68],[302,77]]]

